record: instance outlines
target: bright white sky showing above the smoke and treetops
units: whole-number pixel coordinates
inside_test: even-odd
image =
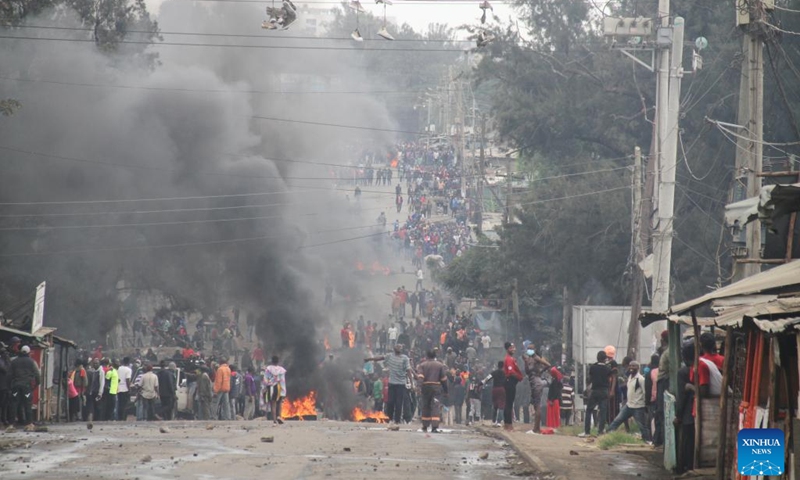
[[[187,0],[188,1],[188,0]],[[213,0],[203,0],[213,1]],[[148,8],[158,14],[159,8],[164,0],[145,0]],[[231,8],[236,8],[236,0],[220,0],[220,3],[230,2]],[[247,3],[252,3],[247,0]],[[382,15],[383,7],[376,5],[371,0],[362,0],[362,5],[367,12],[373,15]],[[264,6],[271,5],[271,0],[265,0]],[[387,17],[394,19],[398,24],[408,23],[411,27],[419,32],[424,32],[431,23],[446,23],[455,28],[464,24],[475,24],[481,16],[479,8],[480,2],[478,0],[421,0],[421,1],[403,1],[394,0],[393,4],[387,7]],[[302,9],[303,5],[308,5],[313,8],[333,8],[340,5],[340,2],[335,0],[295,0],[295,5],[298,9]],[[500,17],[503,22],[507,22],[509,18],[516,18],[516,14],[507,1],[491,2],[494,14]],[[300,18],[302,19],[302,17]],[[243,26],[243,30],[247,31],[262,31],[260,28],[260,20],[254,21],[253,25]],[[219,32],[219,33],[243,33],[243,32]],[[458,38],[463,39],[467,36],[465,32],[459,32]]]

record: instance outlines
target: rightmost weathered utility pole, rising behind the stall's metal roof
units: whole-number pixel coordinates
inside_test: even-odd
[[[764,17],[773,2],[737,0],[737,24],[745,28],[742,51],[742,76],[739,86],[737,123],[744,127],[743,137],[737,139],[737,180],[747,185],[746,198],[761,192],[762,153],[764,139]],[[761,271],[761,222],[750,222],[745,230],[747,253],[744,262],[734,264],[733,281]]]

